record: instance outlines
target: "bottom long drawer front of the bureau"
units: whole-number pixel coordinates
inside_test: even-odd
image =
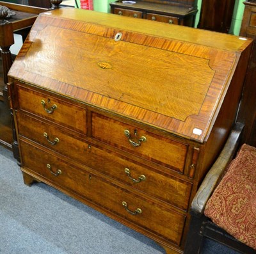
[[[186,219],[183,214],[141,198],[102,177],[75,168],[24,141],[20,141],[20,146],[24,167],[47,179],[54,186],[83,196],[100,209],[110,211],[129,225],[135,225],[135,228],[142,228],[166,241],[180,244]],[[47,167],[47,164],[51,165],[51,168]],[[58,170],[61,170],[61,173]],[[127,211],[128,209],[134,214]],[[138,213],[140,210],[137,209],[141,209],[141,213]]]

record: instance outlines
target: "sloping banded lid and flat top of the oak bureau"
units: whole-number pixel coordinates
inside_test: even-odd
[[[186,41],[178,41],[179,26],[156,24],[165,35],[156,36],[150,33],[152,29],[134,29],[137,20],[123,18],[74,9],[44,13],[36,20],[9,75],[204,141],[241,51],[250,41],[224,36],[227,43],[219,49],[212,47],[209,39],[204,44],[205,39],[200,40],[203,32],[193,28],[188,29],[191,41],[189,35]],[[129,24],[111,26],[122,20]],[[142,20],[141,24],[148,28],[152,22]],[[116,33],[122,33],[118,41]],[[198,41],[193,44],[196,33]]]

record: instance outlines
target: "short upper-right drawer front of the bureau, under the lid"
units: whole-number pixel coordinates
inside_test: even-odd
[[[127,136],[128,131],[130,137]],[[92,114],[92,137],[148,161],[172,168],[179,173],[184,171],[188,152],[186,144],[163,138],[96,113]]]

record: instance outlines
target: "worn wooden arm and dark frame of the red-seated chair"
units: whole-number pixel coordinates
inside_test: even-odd
[[[239,253],[256,253],[256,250],[235,239],[232,235],[228,234],[225,230],[220,228],[220,226],[217,226],[211,219],[204,215],[205,206],[207,205],[209,198],[212,193],[214,193],[216,186],[220,183],[223,174],[225,174],[228,165],[237,152],[243,127],[244,125],[242,123],[236,123],[220,156],[212,166],[209,173],[207,173],[202,185],[193,199],[190,212],[191,222],[189,225],[184,254],[200,253],[206,238],[220,242],[235,251],[239,251]]]

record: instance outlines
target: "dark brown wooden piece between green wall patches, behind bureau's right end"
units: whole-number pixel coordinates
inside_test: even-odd
[[[236,0],[202,0],[198,28],[228,33]]]

